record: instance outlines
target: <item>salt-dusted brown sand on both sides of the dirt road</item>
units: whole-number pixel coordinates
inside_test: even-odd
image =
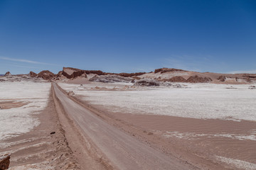
[[[74,101],[184,164],[256,169],[256,90],[248,89],[252,84],[149,88],[86,79],[73,83],[60,86],[75,93],[70,96]],[[0,154],[11,153],[10,169],[111,169],[94,152],[97,146],[88,143],[90,137],[81,137],[63,113],[50,84],[6,82],[0,90]]]

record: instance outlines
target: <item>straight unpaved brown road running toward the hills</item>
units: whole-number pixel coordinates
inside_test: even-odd
[[[193,169],[181,160],[169,157],[107,124],[92,111],[63,94],[56,84],[53,84],[53,89],[65,113],[77,123],[82,134],[90,137],[105,154],[114,169]]]

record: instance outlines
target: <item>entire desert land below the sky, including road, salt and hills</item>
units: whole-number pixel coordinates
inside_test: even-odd
[[[256,169],[256,74],[0,77],[0,168]]]

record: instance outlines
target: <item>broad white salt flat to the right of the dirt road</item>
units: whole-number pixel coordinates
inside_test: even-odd
[[[60,84],[67,91],[85,96],[86,101],[114,112],[256,121],[256,90],[248,89],[250,85],[181,85],[182,88],[92,91],[87,85]]]

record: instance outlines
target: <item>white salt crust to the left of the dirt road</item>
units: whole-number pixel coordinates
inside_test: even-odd
[[[49,93],[50,83],[1,82],[0,102],[13,101],[25,105],[0,110],[0,140],[29,132],[39,125],[40,122],[33,115],[46,108]]]

